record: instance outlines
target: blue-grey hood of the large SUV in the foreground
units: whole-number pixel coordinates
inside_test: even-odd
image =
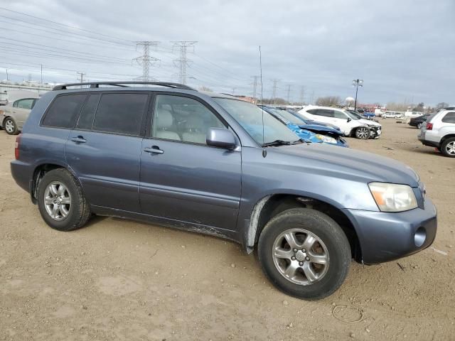
[[[326,144],[298,144],[269,148],[280,153],[280,166],[301,167],[305,173],[318,173],[364,183],[372,181],[399,183],[417,188],[419,176],[404,163],[357,151],[352,148],[333,148]]]

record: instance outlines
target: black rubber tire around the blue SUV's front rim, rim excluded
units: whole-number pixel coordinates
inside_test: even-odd
[[[295,229],[311,232],[326,247],[328,268],[314,283],[294,283],[286,278],[274,263],[275,242],[284,232]],[[348,275],[351,260],[349,242],[341,227],[328,215],[307,208],[293,208],[273,217],[259,236],[257,254],[264,274],[275,287],[290,296],[305,300],[319,300],[334,293]],[[303,270],[301,272],[303,273]]]

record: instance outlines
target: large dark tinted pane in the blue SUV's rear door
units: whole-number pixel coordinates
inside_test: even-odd
[[[148,94],[103,94],[93,130],[139,135]]]

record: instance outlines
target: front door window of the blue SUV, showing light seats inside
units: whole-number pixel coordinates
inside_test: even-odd
[[[156,95],[151,136],[205,144],[209,128],[226,128],[205,105],[188,97]]]

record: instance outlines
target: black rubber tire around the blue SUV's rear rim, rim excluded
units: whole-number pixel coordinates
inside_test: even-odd
[[[63,184],[66,192],[70,197],[70,205],[68,206],[68,215],[60,217],[60,220],[55,220],[46,210],[45,195],[48,186],[51,183]],[[55,207],[55,205],[54,205]],[[73,231],[80,229],[90,219],[90,206],[85,199],[82,188],[74,176],[64,168],[54,169],[45,173],[38,185],[38,208],[43,220],[53,229],[58,231]]]

